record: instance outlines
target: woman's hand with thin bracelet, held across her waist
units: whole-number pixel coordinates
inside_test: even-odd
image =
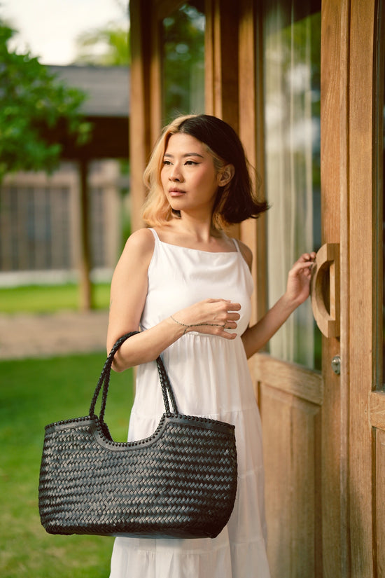
[[[228,299],[204,299],[174,313],[170,318],[176,324],[185,327],[183,333],[197,331],[234,339],[237,334],[227,330],[237,329],[240,308],[239,303],[232,303]]]

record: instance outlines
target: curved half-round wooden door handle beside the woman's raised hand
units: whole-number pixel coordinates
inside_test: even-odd
[[[339,337],[339,243],[325,243],[316,254],[310,294],[321,333]]]

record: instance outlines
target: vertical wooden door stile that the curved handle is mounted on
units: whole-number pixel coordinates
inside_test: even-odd
[[[322,339],[321,493],[323,575],[349,577],[349,0],[321,4],[322,242],[340,244],[340,338]],[[332,371],[335,355],[341,373]]]

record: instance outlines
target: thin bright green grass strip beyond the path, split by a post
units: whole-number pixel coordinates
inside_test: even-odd
[[[94,309],[108,309],[109,283],[92,284]],[[79,288],[77,284],[29,285],[0,289],[1,313],[51,313],[58,310],[78,310]]]

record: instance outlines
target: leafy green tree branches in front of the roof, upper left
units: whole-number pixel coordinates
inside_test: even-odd
[[[29,53],[10,51],[14,32],[0,20],[0,181],[7,172],[55,168],[61,146],[43,135],[59,120],[80,143],[89,132],[78,112],[83,92],[57,81]]]

